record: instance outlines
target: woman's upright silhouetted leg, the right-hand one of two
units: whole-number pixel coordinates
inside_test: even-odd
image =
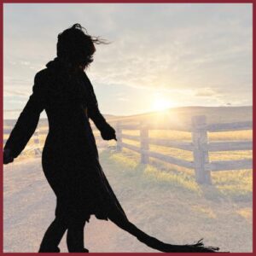
[[[67,249],[69,253],[88,253],[84,248],[85,220],[70,221],[67,227]]]

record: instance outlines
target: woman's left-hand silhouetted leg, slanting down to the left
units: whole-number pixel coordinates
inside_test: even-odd
[[[59,253],[58,245],[66,230],[67,224],[56,217],[46,230],[38,253]]]

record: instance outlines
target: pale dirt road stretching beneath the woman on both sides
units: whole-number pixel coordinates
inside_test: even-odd
[[[233,202],[212,202],[194,195],[189,200],[190,195],[148,183],[137,172],[127,173],[122,166],[114,170],[108,160],[102,161],[102,167],[128,218],[149,235],[176,244],[204,237],[206,245],[223,251],[251,251],[251,217],[238,214]],[[55,195],[44,177],[41,158],[4,166],[3,186],[3,251],[38,252],[55,212]],[[84,234],[85,247],[92,253],[156,252],[110,221],[93,216]],[[67,252],[66,236],[60,247]]]

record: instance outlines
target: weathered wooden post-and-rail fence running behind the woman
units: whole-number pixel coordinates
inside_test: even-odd
[[[109,121],[116,130],[117,143],[116,150],[122,151],[122,148],[128,148],[141,155],[141,163],[148,164],[149,158],[162,160],[166,163],[171,163],[177,166],[183,166],[189,169],[195,170],[195,180],[197,183],[208,183],[211,184],[211,172],[217,171],[228,171],[228,170],[241,170],[241,169],[252,169],[253,160],[222,160],[222,161],[209,161],[209,152],[214,151],[230,151],[230,150],[252,150],[252,141],[234,141],[234,142],[208,142],[208,132],[218,131],[241,131],[241,130],[252,130],[252,122],[236,122],[226,124],[211,124],[207,125],[206,116],[194,116],[191,119],[191,126],[189,128],[181,128],[178,126],[165,126],[158,127],[153,125],[147,125],[139,123],[137,125],[127,125],[122,121]],[[92,126],[93,127],[93,126]],[[124,134],[125,130],[137,130],[139,136]],[[150,130],[177,130],[177,131],[189,131],[192,133],[191,142],[181,142],[171,139],[152,138],[148,136]],[[9,134],[11,128],[4,128],[4,134]],[[47,130],[36,130],[32,136],[32,146],[26,147],[23,154],[27,151],[34,151],[35,154],[41,154],[42,145],[40,144],[39,135],[46,135]],[[96,136],[96,140],[100,137]],[[140,143],[140,147],[124,143],[123,139],[136,141]],[[3,140],[5,143],[6,140]],[[150,151],[149,145],[159,145],[170,148],[179,148],[193,152],[193,161],[178,159],[177,157],[160,154],[158,152]]]

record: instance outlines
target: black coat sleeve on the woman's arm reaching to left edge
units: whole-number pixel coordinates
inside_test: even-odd
[[[4,146],[4,148],[10,148],[14,158],[26,147],[26,143],[28,143],[38,126],[40,113],[44,110],[45,94],[45,79],[42,73],[39,72],[35,75],[32,95],[26,102],[26,106],[20,113]]]

